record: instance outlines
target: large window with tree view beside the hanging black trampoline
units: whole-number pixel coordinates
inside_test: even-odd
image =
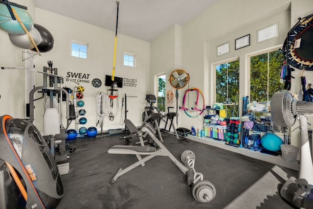
[[[283,90],[279,80],[284,60],[278,48],[250,56],[250,101],[266,102]]]

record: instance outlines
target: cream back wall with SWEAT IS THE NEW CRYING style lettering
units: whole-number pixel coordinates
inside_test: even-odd
[[[46,53],[42,53],[42,56],[36,57],[36,70],[42,70],[44,66],[47,66],[47,60],[53,61],[53,68],[58,68],[58,74],[67,77],[67,72],[77,72],[89,74],[89,83],[80,83],[84,86],[85,97],[83,101],[86,110],[85,117],[87,128],[90,126],[96,126],[97,118],[97,102],[95,95],[98,92],[110,94],[107,91],[105,84],[105,75],[112,75],[113,67],[113,52],[114,52],[114,36],[113,31],[109,31],[100,27],[96,27],[87,23],[82,23],[61,15],[57,15],[39,8],[36,8],[36,21],[35,23],[44,26],[48,29],[54,37],[54,48]],[[89,45],[88,59],[81,59],[70,56],[70,40],[75,40]],[[132,53],[136,57],[136,67],[123,66],[123,53]],[[107,108],[113,113],[114,120],[109,120],[108,116],[105,116],[104,130],[112,128],[124,128],[123,119],[125,110],[116,109],[116,104],[122,102],[122,97],[126,93],[131,97],[127,100],[128,114],[127,118],[131,119],[135,124],[141,124],[141,113],[143,111],[145,94],[149,89],[150,78],[150,44],[138,39],[134,39],[122,34],[117,34],[117,46],[116,46],[116,64],[115,64],[115,76],[122,78],[136,79],[136,87],[124,86],[119,89],[119,97],[113,99],[113,109],[110,107],[110,100],[108,99]],[[102,86],[100,88],[94,88],[91,85],[93,78],[100,78]],[[36,75],[36,86],[41,86],[43,82],[42,75]],[[69,87],[74,90],[77,84],[71,81],[65,81],[63,87]],[[114,95],[116,93],[114,92]],[[108,98],[108,97],[107,97]],[[117,101],[118,100],[118,101]],[[35,112],[35,125],[42,126],[42,114],[43,114],[43,101],[36,102]],[[64,103],[65,104],[65,103]],[[65,114],[64,114],[65,115]],[[123,119],[121,119],[121,116]],[[64,120],[66,121],[66,120]],[[71,124],[71,128],[74,128],[74,124]],[[100,126],[98,126],[100,130]]]

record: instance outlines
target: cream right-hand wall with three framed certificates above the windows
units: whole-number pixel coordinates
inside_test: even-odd
[[[289,27],[289,24],[286,24],[289,16],[284,12],[290,4],[288,0],[274,2],[268,0],[262,1],[262,4],[259,1],[226,1],[217,1],[212,7],[182,27],[182,65],[187,71],[192,69],[190,85],[202,89],[207,101],[206,105],[211,106],[214,102],[213,90],[215,82],[211,64],[222,60],[235,59],[248,52],[282,44],[285,35],[256,45],[256,30],[272,23],[282,22],[279,23],[279,27],[282,28],[279,34],[284,34],[287,31],[287,29],[284,29],[286,25],[287,28]],[[245,9],[256,7],[257,10]],[[278,15],[281,12],[284,13]],[[235,51],[235,39],[247,34],[250,34],[250,46]],[[217,56],[216,47],[227,42],[230,45],[230,52]],[[240,79],[246,80],[245,74],[242,73],[245,70],[245,65],[243,64],[246,62],[244,62],[245,60],[240,61]],[[203,77],[204,73],[207,73],[208,77]],[[246,90],[243,86],[245,83],[241,82],[239,98],[246,96]],[[187,117],[182,119],[182,121],[185,121],[185,124],[182,124],[182,126],[188,127],[189,125],[190,127],[190,120]],[[194,126],[201,128],[201,122],[201,120],[194,120]]]

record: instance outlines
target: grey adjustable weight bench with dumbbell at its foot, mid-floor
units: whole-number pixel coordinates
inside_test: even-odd
[[[139,132],[130,120],[125,121],[125,125],[132,133]],[[156,156],[167,156],[186,175],[188,185],[192,186],[192,195],[195,200],[200,203],[208,203],[215,198],[215,186],[211,182],[203,180],[203,175],[195,171],[194,164],[196,156],[192,151],[184,151],[180,156],[180,160],[182,161],[182,163],[180,163],[163,145],[163,143],[161,143],[161,141],[156,138],[156,129],[152,126],[151,123],[143,124],[140,128],[140,132],[140,136],[146,137],[147,135],[149,135],[150,138],[153,140],[153,144],[155,144],[155,146],[115,145],[108,150],[108,153],[110,154],[135,155],[138,159],[136,163],[133,163],[128,167],[124,169],[120,168],[110,182],[112,185],[115,184],[118,177],[131,171],[139,165],[145,166],[145,162],[149,161],[150,159]],[[142,139],[140,139],[140,141],[142,142]],[[142,155],[146,157],[141,158]]]

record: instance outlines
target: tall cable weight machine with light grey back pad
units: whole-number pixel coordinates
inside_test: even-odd
[[[50,146],[56,162],[67,161],[66,143],[67,134],[63,126],[63,100],[66,100],[67,127],[69,125],[69,95],[62,88],[64,79],[58,76],[58,69],[52,68],[52,61],[48,61],[48,67],[44,67],[44,86],[36,87],[29,93],[29,121],[34,121],[34,93],[39,92],[47,95],[44,102],[44,138]],[[58,85],[60,87],[58,87]],[[40,90],[40,91],[39,91]],[[64,98],[65,97],[65,98]],[[59,101],[57,100],[59,99]],[[59,105],[60,104],[60,108]],[[60,114],[59,114],[60,113]],[[55,149],[56,148],[56,149]],[[56,152],[57,151],[57,152]]]

